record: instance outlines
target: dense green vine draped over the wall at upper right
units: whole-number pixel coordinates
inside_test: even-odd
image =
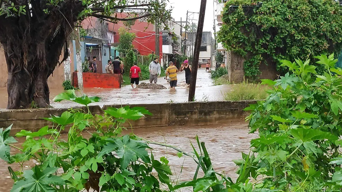
[[[217,38],[227,50],[245,57],[245,76],[260,74],[261,62],[276,64],[285,74],[280,60],[311,59],[313,55],[339,54],[342,48],[342,8],[335,1],[266,0],[260,8],[229,8],[229,5],[255,5],[257,1],[231,0],[223,9],[223,26]]]

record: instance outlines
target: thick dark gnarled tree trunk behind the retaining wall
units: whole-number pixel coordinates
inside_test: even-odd
[[[50,107],[48,78],[77,22],[81,1],[65,0],[45,14],[31,2],[26,15],[0,16],[0,43],[8,69],[8,109]],[[39,2],[39,1],[38,1]],[[26,6],[27,8],[29,6]],[[65,59],[67,54],[65,54]]]

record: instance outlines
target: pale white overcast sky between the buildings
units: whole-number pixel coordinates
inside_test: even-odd
[[[169,0],[169,4],[173,7],[171,16],[175,19],[175,21],[180,21],[182,17],[182,21],[186,19],[186,11],[189,12],[199,12],[199,8],[201,5],[201,0]],[[216,2],[214,0],[207,0],[206,13],[204,18],[204,26],[203,31],[213,31],[214,26],[214,13],[216,15]],[[189,15],[192,13],[189,13]],[[196,19],[196,20],[188,20],[190,23],[198,23],[198,14],[194,13],[191,16],[188,16],[188,19]]]

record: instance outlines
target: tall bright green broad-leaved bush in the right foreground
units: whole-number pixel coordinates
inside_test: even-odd
[[[246,108],[250,132],[258,130],[259,138],[251,141],[257,155],[253,167],[240,177],[262,175],[254,189],[341,190],[342,70],[334,68],[333,55],[316,58],[327,71],[323,75],[310,60],[282,60],[290,72],[276,81],[262,80],[272,86],[270,95]]]

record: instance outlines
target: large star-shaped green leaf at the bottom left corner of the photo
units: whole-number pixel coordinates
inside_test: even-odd
[[[57,168],[48,167],[41,171],[38,166],[30,170],[24,171],[24,180],[19,180],[14,183],[11,192],[27,192],[39,191],[39,192],[55,192],[56,189],[53,186],[62,186],[64,181],[61,177],[52,175],[56,172]]]

